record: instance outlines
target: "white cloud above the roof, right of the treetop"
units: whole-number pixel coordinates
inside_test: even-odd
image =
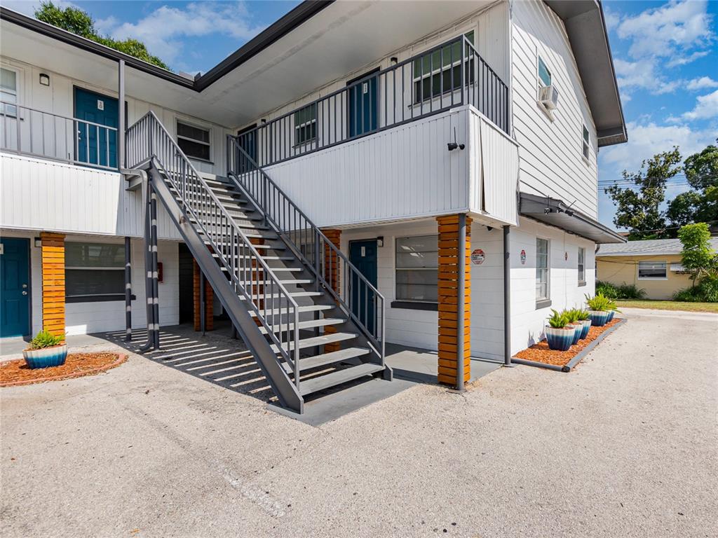
[[[139,39],[151,54],[169,64],[186,57],[184,38],[225,34],[246,41],[263,29],[251,22],[243,2],[195,2],[182,8],[163,5],[135,23],[110,18],[98,21],[97,27],[115,39]]]

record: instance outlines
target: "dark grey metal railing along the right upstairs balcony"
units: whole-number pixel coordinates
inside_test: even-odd
[[[508,99],[505,82],[460,36],[235,138],[264,167],[467,104],[508,133]]]

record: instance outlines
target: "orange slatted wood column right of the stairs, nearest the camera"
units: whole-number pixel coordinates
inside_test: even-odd
[[[464,339],[460,368],[470,379],[471,356],[471,219],[466,217],[466,242],[459,243],[459,216],[437,217],[439,222],[439,383],[456,386],[459,339]],[[465,252],[465,281],[459,282],[459,254]],[[459,326],[459,297],[465,297],[464,324]]]

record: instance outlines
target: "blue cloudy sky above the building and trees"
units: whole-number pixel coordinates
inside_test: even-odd
[[[136,37],[177,71],[206,72],[295,1],[55,1],[88,11],[101,32]],[[37,0],[3,4],[32,14]],[[599,179],[620,179],[674,145],[687,156],[718,136],[718,0],[605,0],[629,142],[602,148]],[[671,199],[686,189],[668,190]],[[599,217],[613,204],[600,191]]]

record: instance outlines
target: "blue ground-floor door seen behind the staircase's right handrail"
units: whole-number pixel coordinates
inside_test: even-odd
[[[376,240],[351,241],[349,261],[376,288]],[[352,312],[369,331],[374,331],[378,316],[376,293],[356,275],[353,276],[350,286]]]

